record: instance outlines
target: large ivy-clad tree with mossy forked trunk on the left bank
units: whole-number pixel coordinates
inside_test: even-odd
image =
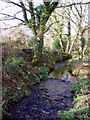
[[[19,0],[18,3],[13,2],[12,0],[5,0],[4,2],[16,5],[22,10],[24,20],[17,18],[15,15],[11,16],[5,13],[2,13],[2,15],[21,20],[22,24],[32,29],[36,45],[34,54],[39,61],[43,49],[43,35],[45,31],[45,24],[47,23],[51,13],[58,5],[58,2],[52,2],[52,0],[51,2],[45,2],[45,0],[43,0],[43,5],[40,5],[38,7],[34,7],[33,0]],[[28,16],[28,13],[31,17]]]

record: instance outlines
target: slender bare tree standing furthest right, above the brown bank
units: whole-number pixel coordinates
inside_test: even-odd
[[[79,59],[81,60],[84,55],[84,47],[86,42],[85,40],[86,38],[84,38],[84,33],[86,30],[89,29],[85,21],[87,4],[82,5],[81,3],[79,6],[74,5],[74,9],[76,10],[76,14],[74,13],[74,11],[73,11],[73,14],[76,17],[76,28],[78,31],[78,54],[79,54]]]

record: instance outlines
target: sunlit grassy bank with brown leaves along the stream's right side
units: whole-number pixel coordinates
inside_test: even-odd
[[[89,62],[71,60],[67,64],[69,71],[75,76],[75,84],[71,92],[74,94],[74,107],[69,111],[58,111],[61,119],[88,120],[89,119]]]

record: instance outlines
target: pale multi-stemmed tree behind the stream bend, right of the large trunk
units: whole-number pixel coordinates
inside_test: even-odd
[[[55,25],[51,27],[53,30],[53,33],[56,36],[57,39],[54,41],[58,43],[58,48],[61,50],[62,53],[68,53],[69,48],[70,48],[70,41],[71,41],[71,12],[72,7],[66,9],[65,7],[63,9],[57,9],[55,12],[53,12],[52,15],[52,21],[55,21]],[[66,18],[65,12],[68,11],[68,16]],[[67,22],[68,21],[68,22]],[[65,24],[67,23],[67,25]],[[64,29],[67,29],[67,34],[65,34]],[[66,41],[67,38],[67,41]],[[57,44],[56,43],[56,44]]]

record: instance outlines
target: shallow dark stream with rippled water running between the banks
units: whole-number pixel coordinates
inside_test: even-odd
[[[30,89],[30,96],[23,99],[10,110],[10,119],[43,120],[59,119],[58,110],[69,110],[73,107],[71,87],[74,79],[67,71],[66,61],[56,63],[49,79]]]

